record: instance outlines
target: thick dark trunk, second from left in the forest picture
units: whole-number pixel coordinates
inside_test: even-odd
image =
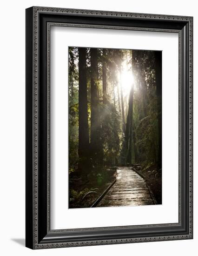
[[[101,137],[98,81],[98,52],[97,48],[90,49],[91,54],[91,150],[92,163],[96,167],[101,163]]]

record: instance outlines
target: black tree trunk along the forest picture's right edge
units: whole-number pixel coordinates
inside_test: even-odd
[[[162,52],[155,51],[156,95],[158,99],[158,168],[162,164]]]

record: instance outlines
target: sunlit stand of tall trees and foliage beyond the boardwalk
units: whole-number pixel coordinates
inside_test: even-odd
[[[69,47],[69,173],[105,182],[112,166],[161,169],[161,56]]]

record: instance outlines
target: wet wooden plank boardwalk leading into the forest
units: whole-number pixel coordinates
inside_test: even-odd
[[[117,169],[117,181],[97,207],[155,204],[144,179],[129,167]]]

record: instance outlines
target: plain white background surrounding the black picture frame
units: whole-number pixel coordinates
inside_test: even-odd
[[[98,9],[194,16],[194,240],[30,250],[25,248],[25,8]],[[198,13],[195,0],[4,1],[0,14],[0,254],[195,255],[198,243]],[[194,252],[194,253],[193,253]]]

